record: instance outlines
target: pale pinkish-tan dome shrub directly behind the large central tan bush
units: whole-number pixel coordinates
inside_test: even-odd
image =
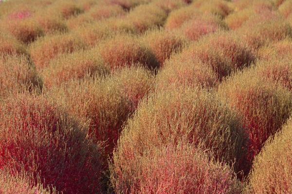
[[[174,55],[166,61],[156,76],[158,89],[179,85],[210,88],[216,86],[218,82],[219,78],[211,65],[202,63],[200,59],[190,59],[184,53]]]

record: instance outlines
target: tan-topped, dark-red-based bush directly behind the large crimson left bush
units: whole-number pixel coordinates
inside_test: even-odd
[[[100,78],[71,81],[49,91],[80,123],[89,125],[89,136],[105,142],[106,156],[111,154],[119,132],[132,113],[133,105],[118,84]]]

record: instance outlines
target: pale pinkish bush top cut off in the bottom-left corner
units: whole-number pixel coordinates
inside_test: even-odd
[[[54,190],[45,189],[41,184],[25,174],[11,175],[5,171],[0,172],[0,194],[56,194]]]

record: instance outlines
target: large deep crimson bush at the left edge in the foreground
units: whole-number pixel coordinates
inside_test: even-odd
[[[1,104],[0,120],[0,169],[25,170],[64,194],[101,192],[101,149],[54,102],[20,94]]]

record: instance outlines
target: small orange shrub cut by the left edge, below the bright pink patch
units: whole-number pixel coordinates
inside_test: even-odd
[[[0,55],[27,54],[25,46],[8,33],[0,32]]]

